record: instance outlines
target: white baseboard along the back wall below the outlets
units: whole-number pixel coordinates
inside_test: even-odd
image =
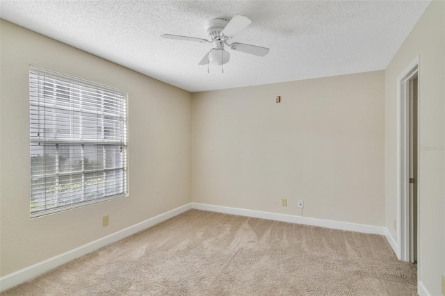
[[[385,227],[366,225],[366,224],[357,224],[350,222],[339,222],[332,220],[323,220],[309,217],[301,217],[296,215],[286,215],[280,213],[270,213],[270,212],[262,212],[262,211],[254,211],[248,210],[245,208],[230,208],[228,206],[213,206],[211,204],[199,204],[196,202],[192,202],[192,208],[196,208],[197,210],[203,211],[211,211],[232,215],[241,215],[246,217],[255,217],[267,220],[275,220],[282,222],[291,222],[297,224],[306,224],[312,226],[326,227],[332,229],[340,229],[340,230],[348,230],[348,231],[356,231],[362,233],[373,233],[380,234],[385,236]]]

